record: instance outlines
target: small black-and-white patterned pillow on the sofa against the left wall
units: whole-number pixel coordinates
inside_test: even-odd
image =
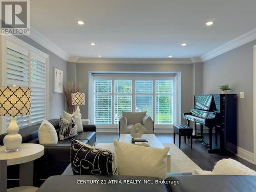
[[[74,116],[70,119],[70,121],[60,117],[59,127],[59,140],[65,140],[77,135],[76,120]]]

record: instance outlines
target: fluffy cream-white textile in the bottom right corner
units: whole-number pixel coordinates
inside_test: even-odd
[[[216,163],[212,172],[206,170],[194,170],[192,175],[252,175],[256,172],[242,163],[233,159],[222,159]]]

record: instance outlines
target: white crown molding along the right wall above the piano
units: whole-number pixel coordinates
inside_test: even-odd
[[[201,56],[203,62],[256,39],[256,28]]]

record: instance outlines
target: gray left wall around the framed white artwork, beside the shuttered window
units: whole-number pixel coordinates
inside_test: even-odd
[[[42,47],[28,36],[16,36],[31,46],[49,55],[49,119],[59,118],[66,109],[66,101],[62,93],[53,93],[53,68],[63,71],[63,82],[67,81],[67,61],[55,55],[45,47]]]

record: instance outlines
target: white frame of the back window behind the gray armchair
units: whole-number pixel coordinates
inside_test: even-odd
[[[112,92],[114,91],[114,80],[132,80],[132,109],[135,110],[135,96],[139,94],[135,94],[135,80],[153,80],[153,116],[155,120],[156,116],[156,80],[170,80],[173,78],[174,80],[174,103],[173,103],[173,124],[180,123],[181,117],[181,104],[180,104],[180,72],[170,72],[170,73],[138,73],[138,72],[89,72],[89,106],[88,106],[88,114],[89,119],[92,123],[94,123],[94,79],[100,80],[112,80]],[[146,94],[145,94],[146,95]],[[115,94],[112,94],[112,102],[114,101]],[[100,129],[117,129],[118,124],[114,124],[114,110],[115,105],[112,104],[112,124],[111,125],[97,125],[97,128]],[[155,129],[173,129],[173,124],[158,124],[155,125]]]

